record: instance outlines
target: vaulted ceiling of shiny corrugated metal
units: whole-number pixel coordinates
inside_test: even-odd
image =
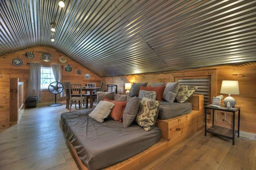
[[[256,0],[0,0],[0,21],[0,55],[47,45],[100,76],[256,61]]]

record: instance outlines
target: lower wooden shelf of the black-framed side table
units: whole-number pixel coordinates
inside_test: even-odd
[[[217,125],[213,125],[212,127],[208,128],[206,130],[206,132],[233,139],[233,130],[230,129],[230,128],[225,128],[225,127],[220,127],[220,126],[217,126]],[[235,135],[236,135],[237,132],[238,131],[235,130]]]

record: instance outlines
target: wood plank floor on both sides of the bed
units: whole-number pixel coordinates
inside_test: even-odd
[[[73,109],[72,109],[73,110]],[[65,105],[25,109],[18,124],[0,128],[1,170],[77,170],[59,127]],[[256,140],[230,139],[203,129],[166,151],[144,170],[255,170]]]

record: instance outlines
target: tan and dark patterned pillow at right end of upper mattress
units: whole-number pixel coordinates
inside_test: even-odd
[[[180,103],[187,102],[197,90],[195,85],[180,85],[176,100]]]

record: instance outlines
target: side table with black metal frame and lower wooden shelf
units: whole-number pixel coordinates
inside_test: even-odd
[[[206,118],[206,109],[212,109],[212,127],[210,128],[207,128],[206,127],[206,121],[207,121],[207,118]],[[233,113],[233,128],[230,129],[230,128],[225,128],[225,127],[221,127],[221,126],[218,126],[218,125],[214,125],[214,111],[215,110],[218,110],[218,111],[225,111],[225,112],[231,112]],[[235,113],[238,111],[238,129],[235,130]],[[239,138],[239,128],[240,128],[240,107],[235,107],[234,110],[232,109],[227,109],[226,107],[212,107],[210,105],[207,105],[204,107],[204,135],[206,136],[206,132],[209,132],[209,133],[212,133],[212,134],[216,134],[216,135],[219,135],[219,136],[223,136],[223,137],[226,137],[226,138],[230,138],[233,140],[233,145],[235,144],[235,134],[236,132],[238,133],[237,134],[237,137]]]

